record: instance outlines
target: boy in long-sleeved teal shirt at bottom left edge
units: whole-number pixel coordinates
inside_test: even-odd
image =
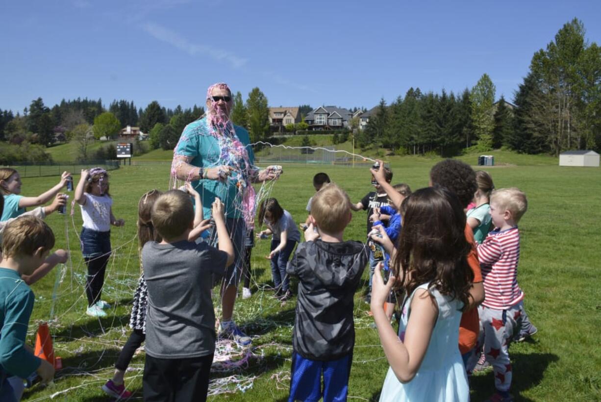
[[[34,216],[16,219],[4,229],[0,261],[0,401],[20,400],[23,382],[14,388],[8,377],[37,373],[42,382],[54,377],[54,367],[25,346],[34,293],[21,279],[39,267],[54,246],[54,234]]]

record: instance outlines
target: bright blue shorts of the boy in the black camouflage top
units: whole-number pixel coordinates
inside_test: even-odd
[[[337,360],[320,361],[293,352],[288,402],[319,401],[322,396],[323,402],[346,401],[352,363],[353,353]]]

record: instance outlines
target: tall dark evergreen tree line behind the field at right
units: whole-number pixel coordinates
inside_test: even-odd
[[[382,99],[356,140],[362,147],[442,156],[471,146],[555,155],[599,151],[601,48],[585,39],[580,20],[566,23],[546,49],[534,54],[513,102],[503,97],[495,102],[495,85],[486,74],[458,95],[410,88],[390,105]]]

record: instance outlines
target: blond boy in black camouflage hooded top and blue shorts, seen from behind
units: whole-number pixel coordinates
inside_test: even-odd
[[[364,244],[343,240],[351,218],[346,192],[334,183],[324,186],[313,197],[307,241],[288,264],[288,275],[299,278],[290,401],[346,400],[355,346],[353,296],[368,260]]]

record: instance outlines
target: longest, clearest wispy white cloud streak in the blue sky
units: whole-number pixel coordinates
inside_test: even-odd
[[[239,69],[248,61],[248,59],[238,57],[224,49],[216,49],[215,47],[207,46],[205,44],[191,43],[177,32],[171,31],[170,29],[153,22],[144,23],[142,28],[152,37],[171,44],[171,46],[177,47],[177,49],[183,50],[191,56],[206,55],[217,61],[226,61],[230,63],[234,69]]]

